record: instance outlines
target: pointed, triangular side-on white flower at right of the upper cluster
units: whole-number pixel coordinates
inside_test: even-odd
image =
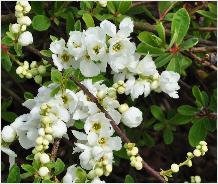
[[[156,65],[149,54],[139,61],[137,73],[144,76],[154,75],[157,73]]]

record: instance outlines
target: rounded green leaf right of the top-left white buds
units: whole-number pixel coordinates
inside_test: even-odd
[[[45,31],[51,25],[51,21],[45,15],[36,15],[33,17],[32,26],[37,31]]]

